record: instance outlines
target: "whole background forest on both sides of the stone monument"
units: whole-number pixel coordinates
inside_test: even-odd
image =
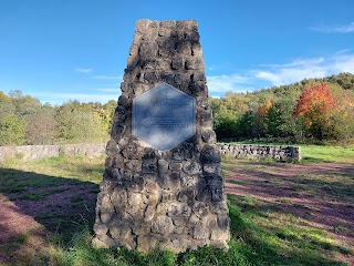
[[[210,98],[219,141],[354,142],[354,75]],[[102,143],[110,137],[116,101],[70,101],[60,106],[0,91],[0,145]]]

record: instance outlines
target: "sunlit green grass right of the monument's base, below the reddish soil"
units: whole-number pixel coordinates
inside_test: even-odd
[[[250,241],[250,236],[243,236],[244,242],[253,243],[256,247],[261,245],[262,249],[258,253],[267,257],[270,265],[341,265],[326,260],[323,254],[352,252],[323,231],[305,226],[301,218],[273,204],[250,196],[230,195],[229,198],[230,204],[239,206],[243,221],[253,234]],[[243,234],[244,229],[238,228],[237,232]],[[270,257],[271,254],[273,257]]]

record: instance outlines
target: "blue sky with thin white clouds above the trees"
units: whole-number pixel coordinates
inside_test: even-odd
[[[0,91],[117,100],[138,19],[195,19],[209,94],[354,73],[353,0],[2,0]]]

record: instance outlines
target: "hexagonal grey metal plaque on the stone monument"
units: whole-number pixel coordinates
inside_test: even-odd
[[[133,100],[133,135],[166,151],[196,133],[195,99],[160,83]]]

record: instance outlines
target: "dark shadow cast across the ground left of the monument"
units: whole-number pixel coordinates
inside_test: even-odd
[[[17,212],[18,221],[30,216],[64,244],[83,224],[92,228],[97,192],[98,185],[91,182],[0,170],[0,193],[14,204],[12,212]],[[1,221],[0,233],[14,235],[17,228]]]

